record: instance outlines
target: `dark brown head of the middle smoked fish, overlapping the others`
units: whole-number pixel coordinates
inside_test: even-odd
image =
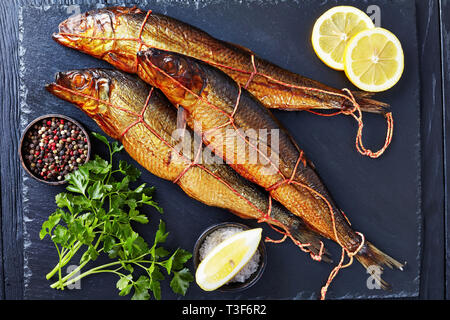
[[[140,51],[137,57],[140,78],[159,88],[174,105],[189,111],[205,92],[206,78],[197,60],[155,48]]]

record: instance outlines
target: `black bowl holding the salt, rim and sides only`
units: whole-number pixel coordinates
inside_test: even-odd
[[[237,222],[223,222],[219,224],[212,225],[211,227],[207,228],[203,233],[200,235],[200,237],[195,242],[194,246],[194,268],[197,270],[199,264],[200,264],[200,247],[203,244],[203,241],[205,241],[206,237],[209,236],[214,231],[221,229],[221,228],[229,228],[229,227],[237,227],[241,228],[243,230],[249,230],[250,228],[242,223]],[[258,251],[260,254],[260,260],[259,260],[259,266],[258,269],[245,281],[245,282],[232,282],[227,283],[221,286],[217,289],[217,291],[222,292],[238,292],[245,289],[250,288],[253,286],[262,276],[264,273],[264,269],[266,268],[267,264],[267,254],[266,254],[266,247],[264,245],[264,241],[261,241],[258,246]]]

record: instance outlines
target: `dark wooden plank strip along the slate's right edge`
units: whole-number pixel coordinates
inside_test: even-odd
[[[438,1],[417,1],[421,70],[423,257],[420,297],[445,296],[443,105]],[[447,273],[448,274],[448,273]]]

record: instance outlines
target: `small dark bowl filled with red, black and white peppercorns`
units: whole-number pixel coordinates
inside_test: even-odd
[[[77,121],[60,114],[33,120],[20,140],[20,162],[33,178],[51,185],[89,160],[91,143]]]

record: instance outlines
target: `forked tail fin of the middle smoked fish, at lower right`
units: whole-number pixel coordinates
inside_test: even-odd
[[[389,290],[391,285],[381,278],[381,272],[371,272],[371,268],[373,266],[378,266],[380,270],[383,270],[383,266],[388,266],[391,269],[396,268],[403,271],[403,264],[377,249],[368,241],[364,244],[355,257],[372,275],[372,277],[378,281],[381,288],[384,290]]]

